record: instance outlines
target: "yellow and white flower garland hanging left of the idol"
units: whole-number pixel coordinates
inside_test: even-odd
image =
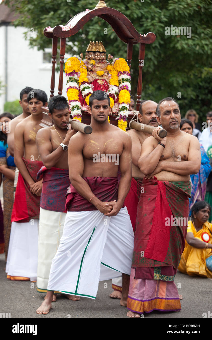
[[[81,58],[74,55],[65,63],[66,73],[66,92],[71,116],[81,122],[81,103],[79,100],[79,71],[81,67]]]

